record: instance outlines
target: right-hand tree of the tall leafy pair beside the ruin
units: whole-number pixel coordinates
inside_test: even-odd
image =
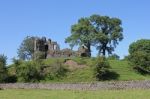
[[[92,15],[90,22],[94,27],[94,43],[99,55],[112,54],[119,41],[123,39],[121,20],[108,16]]]

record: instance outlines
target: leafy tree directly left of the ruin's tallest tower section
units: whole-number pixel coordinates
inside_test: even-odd
[[[27,36],[18,49],[18,57],[23,60],[33,59],[35,37]]]

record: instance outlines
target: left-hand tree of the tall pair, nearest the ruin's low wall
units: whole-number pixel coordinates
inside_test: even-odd
[[[69,43],[71,48],[75,45],[84,45],[88,48],[89,53],[91,53],[92,32],[93,26],[89,19],[81,18],[77,24],[72,25],[71,36],[66,38],[65,42]],[[91,54],[89,56],[91,56]]]

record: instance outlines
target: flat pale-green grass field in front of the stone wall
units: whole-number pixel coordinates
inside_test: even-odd
[[[0,99],[149,99],[150,90],[0,90]]]

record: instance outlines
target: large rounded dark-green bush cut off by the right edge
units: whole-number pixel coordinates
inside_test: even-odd
[[[142,39],[129,47],[129,61],[140,73],[150,73],[150,40]]]

